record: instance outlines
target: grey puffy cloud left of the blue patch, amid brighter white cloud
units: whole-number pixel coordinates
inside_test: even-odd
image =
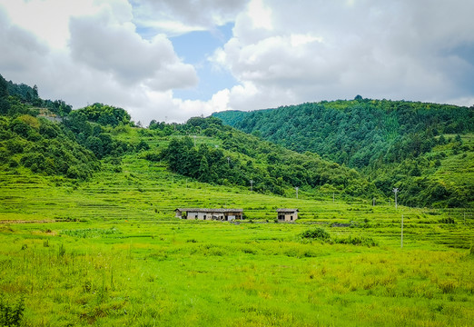
[[[70,31],[72,57],[123,84],[150,84],[165,91],[197,83],[193,66],[180,61],[164,35],[143,40],[133,24],[116,22],[109,13],[75,17]]]

